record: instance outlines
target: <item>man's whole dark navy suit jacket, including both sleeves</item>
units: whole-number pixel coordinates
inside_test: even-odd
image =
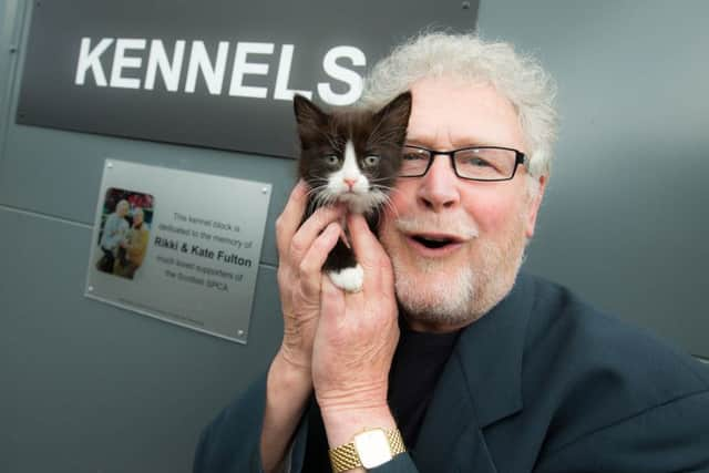
[[[205,429],[196,473],[260,471],[264,398],[261,378]],[[304,415],[294,472],[326,444],[316,423]],[[408,448],[373,471],[709,471],[709,366],[521,275],[461,333]]]

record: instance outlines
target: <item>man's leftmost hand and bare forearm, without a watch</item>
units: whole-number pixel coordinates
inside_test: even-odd
[[[320,318],[321,268],[342,232],[341,208],[320,208],[302,225],[308,187],[298,183],[276,220],[284,340],[266,381],[260,453],[265,472],[279,469],[312,392],[312,340]]]

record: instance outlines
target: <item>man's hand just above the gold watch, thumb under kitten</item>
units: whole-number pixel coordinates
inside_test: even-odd
[[[399,340],[391,261],[361,215],[350,215],[348,228],[364,286],[349,294],[322,278],[312,353],[316,398],[331,446],[366,428],[395,426],[387,404]]]

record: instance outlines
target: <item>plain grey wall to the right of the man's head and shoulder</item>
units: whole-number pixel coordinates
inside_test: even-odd
[[[709,358],[709,2],[481,2],[558,81],[527,267]]]

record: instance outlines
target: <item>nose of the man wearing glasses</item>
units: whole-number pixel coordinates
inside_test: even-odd
[[[454,207],[460,203],[459,184],[451,158],[436,155],[429,172],[422,177],[419,202],[434,212]]]

